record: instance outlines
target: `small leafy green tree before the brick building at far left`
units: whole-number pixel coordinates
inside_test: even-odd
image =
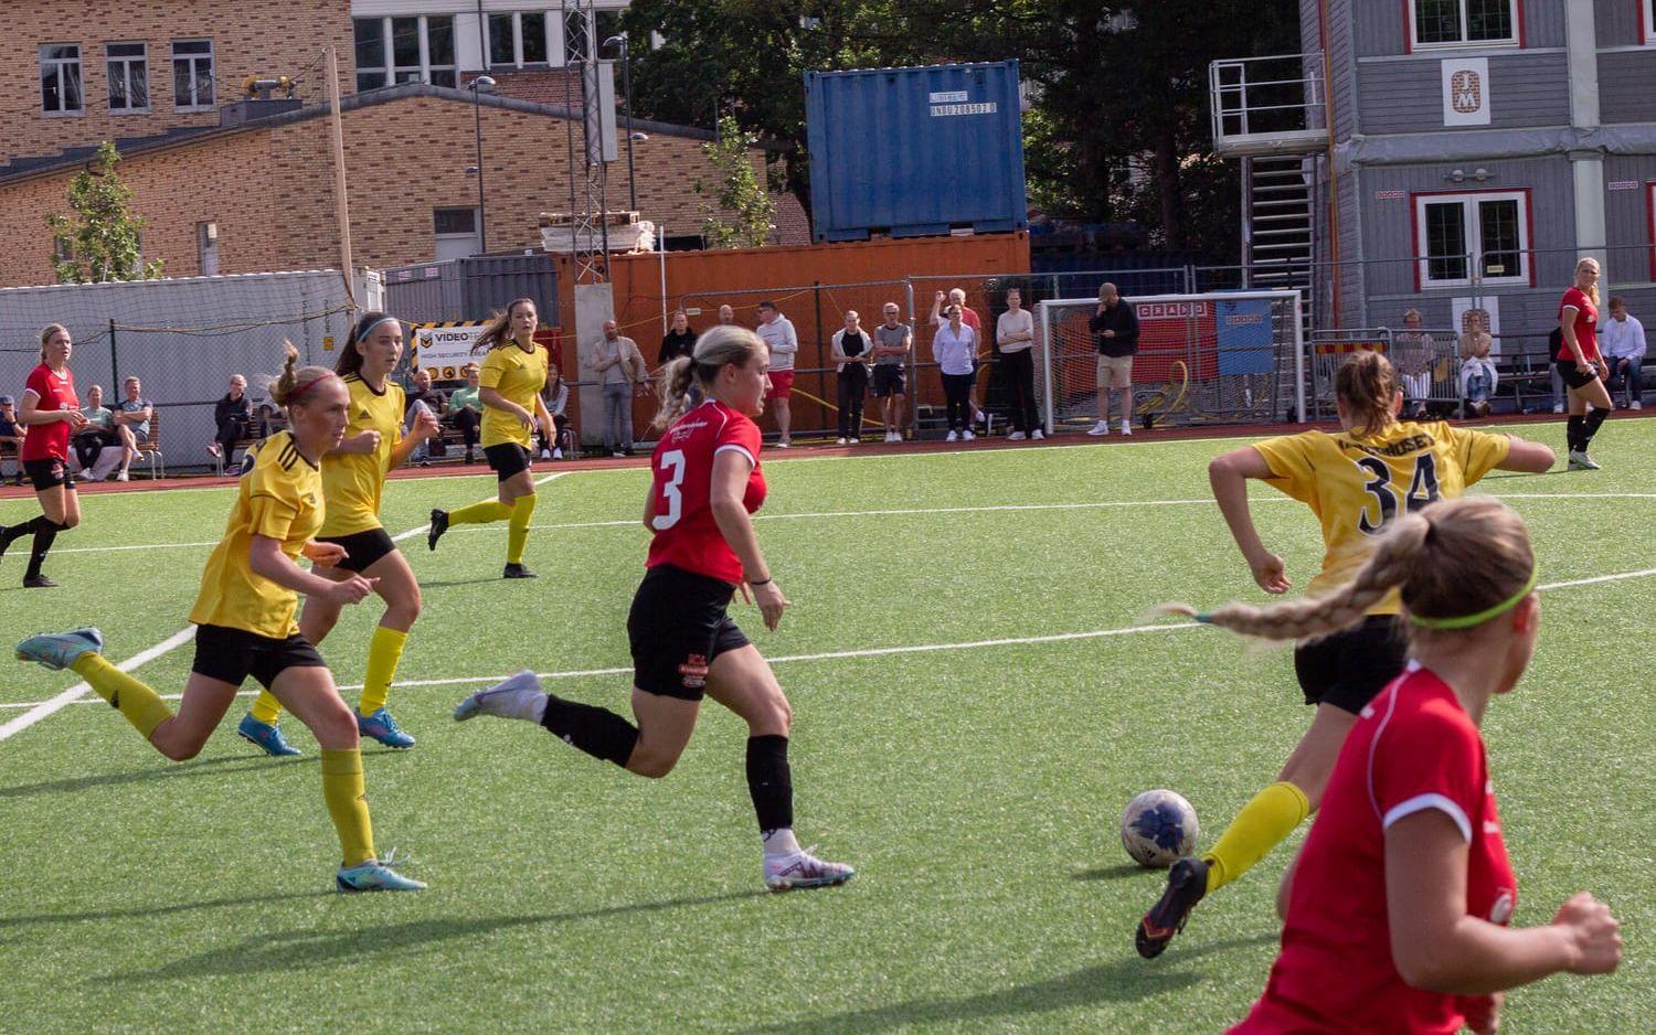
[[[137,235],[146,224],[132,212],[132,189],[114,171],[119,161],[114,144],[104,141],[98,157],[70,181],[71,215],[46,217],[58,283],[161,277],[162,263],[144,262],[139,253]]]

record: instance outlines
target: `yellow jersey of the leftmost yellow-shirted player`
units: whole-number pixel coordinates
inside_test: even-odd
[[[190,608],[199,626],[243,629],[272,639],[300,631],[293,621],[298,593],[278,586],[250,565],[255,535],[282,542],[291,560],[321,528],[321,472],[300,455],[293,432],[265,439],[253,469],[242,475],[235,508],[202,571],[202,590]]]

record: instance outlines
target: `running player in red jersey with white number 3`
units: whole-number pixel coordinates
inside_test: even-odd
[[[694,356],[662,371],[656,424],[667,431],[651,457],[654,479],[644,500],[654,538],[628,614],[638,725],[546,694],[528,671],[472,694],[454,717],[527,719],[595,758],[666,777],[689,744],[702,696],[712,697],[747,720],[747,787],[763,838],[763,879],[772,891],[787,891],[841,884],[854,871],[818,859],[793,836],[793,714],[770,664],[727,614],[739,585],[744,599],[752,591],[768,629],[788,606],[750,518],[765,502],[752,417],[765,407],[768,368],[757,335],[717,326],[697,339]],[[700,397],[694,409],[692,389]]]

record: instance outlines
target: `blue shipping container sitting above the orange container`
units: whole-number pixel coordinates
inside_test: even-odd
[[[811,233],[1028,225],[1018,63],[805,73]]]

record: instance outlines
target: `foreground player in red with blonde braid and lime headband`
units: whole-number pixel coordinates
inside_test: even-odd
[[[1401,590],[1413,657],[1340,749],[1326,808],[1277,894],[1282,952],[1234,1033],[1462,1023],[1492,1033],[1505,989],[1616,969],[1616,921],[1585,891],[1552,924],[1507,927],[1517,881],[1479,727],[1535,651],[1535,575],[1517,513],[1447,500],[1393,522],[1328,595],[1199,616],[1247,636],[1305,639],[1350,633]]]

